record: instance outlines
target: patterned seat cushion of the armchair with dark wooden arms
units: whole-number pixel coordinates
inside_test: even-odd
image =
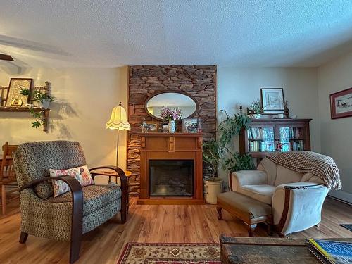
[[[83,191],[83,216],[108,206],[113,201],[120,199],[121,188],[117,184],[89,185],[82,188]],[[71,203],[72,194],[67,192],[57,197],[49,197],[44,200],[48,203]]]

